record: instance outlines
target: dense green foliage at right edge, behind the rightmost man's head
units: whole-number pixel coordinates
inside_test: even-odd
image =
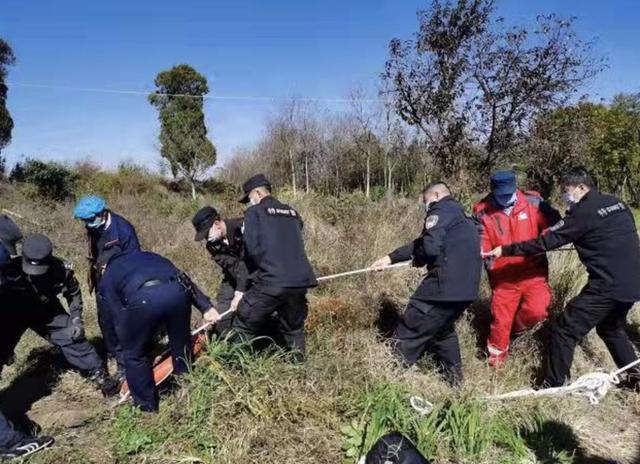
[[[610,105],[582,102],[538,118],[520,164],[543,195],[569,166],[584,165],[598,186],[640,205],[640,112],[637,97]]]

